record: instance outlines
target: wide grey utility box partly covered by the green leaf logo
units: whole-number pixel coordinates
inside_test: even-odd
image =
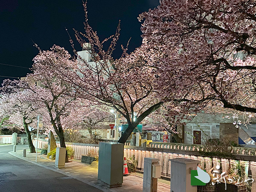
[[[171,192],[197,192],[197,186],[191,185],[190,170],[195,170],[200,161],[185,158],[169,161],[171,161]]]

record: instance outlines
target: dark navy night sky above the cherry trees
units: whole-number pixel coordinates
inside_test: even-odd
[[[139,47],[140,13],[153,9],[159,0],[88,0],[89,24],[101,40],[113,35],[121,20],[121,35],[114,57],[121,55],[120,45],[131,37],[129,51]],[[2,0],[0,2],[0,76],[22,77],[30,72],[32,59],[38,54],[33,41],[41,49],[53,44],[65,47],[71,54],[65,27],[75,41],[73,28],[84,32],[84,10],[81,0]],[[76,49],[81,50],[78,44]],[[27,68],[11,67],[2,64]],[[0,77],[0,84],[4,77]]]

